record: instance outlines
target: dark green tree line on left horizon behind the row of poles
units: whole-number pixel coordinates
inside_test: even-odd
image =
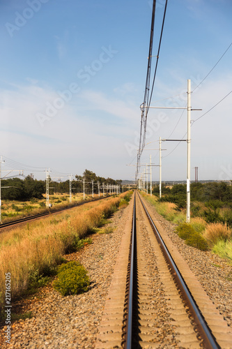
[[[82,193],[83,191],[83,179],[85,179],[85,192],[92,193],[92,181],[94,182],[94,192],[98,192],[98,183],[109,185],[121,185],[121,180],[115,180],[111,178],[104,178],[97,176],[90,170],[85,170],[83,176],[75,175],[75,179],[72,180],[72,193]],[[49,194],[53,193],[69,193],[70,181],[53,181],[52,177],[49,177]],[[1,198],[3,200],[31,200],[32,198],[42,199],[46,193],[46,180],[33,179],[31,176],[27,176],[25,179],[9,178],[1,180]]]

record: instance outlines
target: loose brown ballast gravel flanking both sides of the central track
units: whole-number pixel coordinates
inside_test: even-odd
[[[52,285],[47,285],[32,299],[18,302],[22,312],[32,311],[33,318],[13,323],[10,344],[5,343],[6,327],[1,328],[1,348],[95,348],[98,326],[131,206],[132,200],[128,207],[117,211],[111,218],[109,226],[114,228],[113,232],[95,234],[91,236],[93,244],[77,253],[65,255],[67,260],[78,260],[86,267],[91,279],[90,290],[82,295],[63,297]],[[232,326],[231,266],[217,255],[185,245],[174,232],[175,225],[157,213],[156,216],[212,302]]]

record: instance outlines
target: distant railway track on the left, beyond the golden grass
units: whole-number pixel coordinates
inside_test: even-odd
[[[78,202],[75,205],[70,205],[68,207],[63,207],[61,209],[47,209],[47,211],[45,211],[45,212],[43,212],[41,214],[34,214],[33,216],[27,216],[27,217],[24,217],[24,218],[15,219],[14,221],[10,221],[10,222],[7,222],[7,223],[1,223],[0,224],[0,229],[6,228],[6,227],[10,227],[10,225],[16,225],[16,224],[19,224],[19,223],[24,223],[26,221],[32,221],[33,219],[36,219],[36,218],[42,218],[44,216],[49,216],[49,214],[56,214],[58,212],[65,211],[66,209],[73,209],[74,207],[82,206],[82,205],[86,204],[87,202],[103,200],[103,199],[106,199],[106,198],[109,198],[109,195],[105,196],[104,198],[96,198],[96,199],[93,199],[93,200],[86,200],[85,202]]]

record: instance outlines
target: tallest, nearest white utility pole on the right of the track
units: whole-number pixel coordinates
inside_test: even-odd
[[[187,80],[187,210],[186,222],[190,223],[190,146],[191,146],[191,80]]]

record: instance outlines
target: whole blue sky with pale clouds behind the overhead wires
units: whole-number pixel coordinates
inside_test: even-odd
[[[43,174],[33,167],[133,179],[151,6],[149,0],[0,0],[0,155],[31,166],[38,178]],[[155,48],[163,11],[164,0],[157,0]],[[185,107],[187,79],[194,90],[231,44],[231,14],[230,0],[169,0],[152,105]],[[193,91],[192,107],[203,110],[192,112],[192,120],[229,94],[231,62],[232,46]],[[195,166],[199,179],[232,179],[231,102],[232,94],[193,124],[192,179]],[[153,143],[146,148],[155,149],[160,136],[182,138],[187,113],[181,114],[150,110],[146,142]],[[164,180],[185,179],[183,143],[173,152],[176,144],[163,144]],[[157,151],[151,154],[157,164]],[[149,156],[144,151],[141,163]]]

